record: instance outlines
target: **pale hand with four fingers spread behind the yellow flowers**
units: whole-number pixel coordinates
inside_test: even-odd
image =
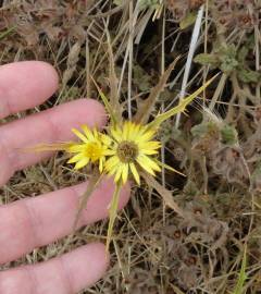
[[[58,89],[55,70],[38,61],[0,66],[0,119],[34,108]],[[0,125],[0,185],[15,171],[35,164],[51,152],[23,152],[24,147],[74,138],[72,127],[82,124],[102,127],[103,107],[91,99],[77,99],[25,119]],[[0,206],[0,265],[15,260],[34,248],[54,242],[72,232],[75,212],[87,183],[16,200]],[[104,180],[91,195],[79,225],[108,217],[113,182]],[[1,195],[0,195],[1,197]],[[120,207],[129,197],[123,188]],[[0,293],[76,294],[92,285],[105,272],[109,256],[102,243],[91,243],[38,265],[0,271]]]

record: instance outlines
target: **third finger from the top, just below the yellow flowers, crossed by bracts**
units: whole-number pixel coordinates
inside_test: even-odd
[[[72,232],[78,199],[86,183],[35,198],[0,206],[0,264],[4,264],[49,244]],[[114,191],[112,180],[104,180],[91,194],[78,226],[108,217],[108,206]],[[129,196],[129,186],[122,189],[120,206]]]

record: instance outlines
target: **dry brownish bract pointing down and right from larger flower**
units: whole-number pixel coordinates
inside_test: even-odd
[[[178,216],[185,218],[185,212],[183,209],[173,200],[172,193],[164,188],[153,176],[147,173],[142,173],[142,177],[146,180],[147,184],[153,187],[163,198],[166,206],[172,208]]]

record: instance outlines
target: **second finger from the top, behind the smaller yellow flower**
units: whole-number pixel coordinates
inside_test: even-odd
[[[101,127],[105,121],[102,105],[92,99],[78,99],[0,126],[0,186],[15,171],[52,155],[28,152],[23,148],[67,142],[74,137],[72,127],[82,124]]]

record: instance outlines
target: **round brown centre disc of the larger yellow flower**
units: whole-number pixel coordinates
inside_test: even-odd
[[[134,142],[123,140],[119,144],[116,152],[122,162],[128,163],[137,158],[138,146]]]

